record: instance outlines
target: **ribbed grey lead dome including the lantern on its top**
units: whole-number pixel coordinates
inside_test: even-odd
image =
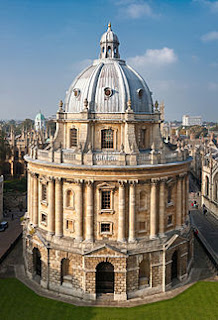
[[[144,79],[119,55],[119,40],[108,25],[100,41],[100,59],[82,71],[66,94],[65,111],[79,113],[84,100],[93,113],[124,113],[127,101],[135,113],[152,113],[151,92]]]

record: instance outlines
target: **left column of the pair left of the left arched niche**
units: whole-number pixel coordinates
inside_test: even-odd
[[[48,183],[48,232],[55,233],[55,188],[54,178],[49,177]]]

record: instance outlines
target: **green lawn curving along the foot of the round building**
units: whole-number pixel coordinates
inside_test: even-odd
[[[4,320],[217,320],[217,292],[217,282],[198,282],[173,299],[139,307],[76,307],[39,297],[16,279],[1,279],[0,318]]]

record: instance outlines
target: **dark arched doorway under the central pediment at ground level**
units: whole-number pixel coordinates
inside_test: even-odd
[[[101,262],[96,267],[96,293],[114,292],[114,267],[109,262]]]

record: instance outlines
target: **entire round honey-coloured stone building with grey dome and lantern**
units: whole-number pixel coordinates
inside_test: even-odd
[[[100,47],[60,102],[50,145],[26,156],[24,257],[49,290],[126,300],[188,277],[191,159],[163,142],[158,104],[110,24]]]

